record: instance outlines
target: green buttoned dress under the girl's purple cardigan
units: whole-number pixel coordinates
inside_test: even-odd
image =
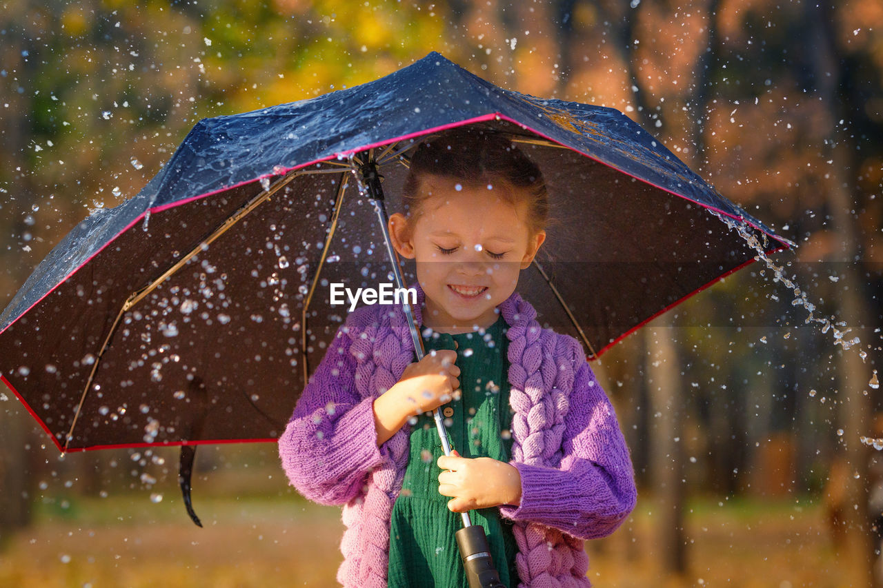
[[[502,315],[484,332],[424,335],[426,352],[454,350],[460,368],[462,396],[442,406],[453,409],[445,418],[452,449],[464,457],[493,457],[509,462],[508,328]],[[389,587],[468,588],[454,533],[463,526],[459,513],[448,509],[448,496],[439,494],[436,461],[442,456],[432,413],[411,426],[411,454],[402,491],[392,509],[389,532]],[[472,524],[485,528],[494,565],[503,584],[517,586],[518,547],[512,523],[497,508],[472,510]]]

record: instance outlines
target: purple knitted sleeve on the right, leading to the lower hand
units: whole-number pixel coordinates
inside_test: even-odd
[[[521,505],[500,510],[513,520],[545,524],[579,539],[598,539],[623,523],[638,494],[613,406],[581,346],[574,343],[578,367],[564,419],[561,464],[552,468],[512,462],[521,474]]]

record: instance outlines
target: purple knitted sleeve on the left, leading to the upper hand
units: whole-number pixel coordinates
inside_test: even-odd
[[[346,328],[338,328],[279,439],[279,456],[291,486],[321,504],[356,498],[368,473],[382,460],[374,398],[358,394]]]

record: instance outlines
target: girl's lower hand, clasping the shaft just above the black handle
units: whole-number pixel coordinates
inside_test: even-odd
[[[448,509],[466,512],[501,504],[521,504],[521,474],[515,466],[491,457],[441,456],[439,494],[450,496]]]

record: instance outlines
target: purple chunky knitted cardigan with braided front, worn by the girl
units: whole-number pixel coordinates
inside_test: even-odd
[[[425,299],[419,284],[417,324]],[[570,335],[541,328],[517,292],[497,308],[509,325],[513,464],[521,505],[514,521],[522,587],[585,588],[584,539],[605,537],[637,500],[629,450],[585,353]],[[363,306],[328,346],[279,439],[285,472],[306,498],[343,505],[337,580],[382,588],[393,502],[408,462],[410,427],[377,447],[372,404],[414,359],[401,305]],[[514,588],[514,587],[511,587]]]

